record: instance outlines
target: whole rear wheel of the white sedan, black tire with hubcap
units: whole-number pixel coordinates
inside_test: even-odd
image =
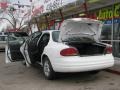
[[[55,79],[55,72],[52,68],[50,60],[45,57],[43,61],[43,73],[46,79],[53,80]]]

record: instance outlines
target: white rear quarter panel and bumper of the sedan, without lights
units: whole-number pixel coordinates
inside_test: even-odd
[[[70,46],[64,43],[53,42],[51,39],[52,37],[50,37],[50,42],[45,47],[43,55],[48,56],[53,70],[56,72],[83,72],[101,70],[114,65],[114,58],[112,54],[83,57],[61,56],[60,51],[65,48],[69,48]],[[108,44],[106,44],[106,46],[107,45]]]

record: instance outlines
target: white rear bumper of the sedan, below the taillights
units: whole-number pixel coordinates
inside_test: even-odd
[[[91,57],[64,57],[57,58],[57,61],[52,63],[53,69],[56,72],[84,72],[100,70],[112,67],[114,59],[112,55],[91,56]]]

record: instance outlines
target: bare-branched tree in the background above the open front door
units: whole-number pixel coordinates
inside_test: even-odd
[[[20,13],[20,9],[17,10],[14,7],[8,8],[6,11],[2,12],[0,19],[2,21],[7,21],[11,25],[13,30],[21,30],[25,25],[26,17],[29,17],[29,13]]]

